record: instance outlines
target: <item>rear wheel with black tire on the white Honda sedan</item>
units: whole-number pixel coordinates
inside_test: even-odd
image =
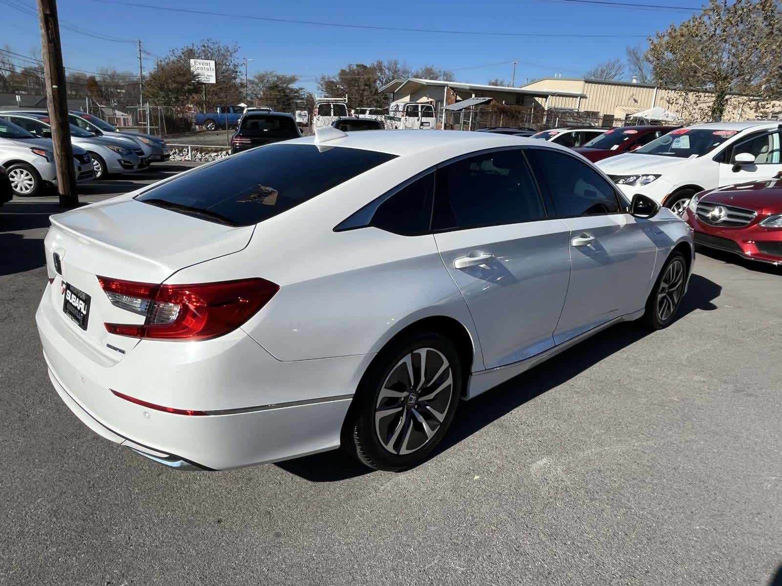
[[[422,384],[421,352],[425,356]],[[378,353],[361,380],[343,427],[343,447],[375,470],[396,472],[418,466],[454,419],[463,366],[454,344],[440,334],[420,332],[392,341]],[[403,396],[389,396],[389,392]],[[426,399],[428,396],[432,398]],[[380,409],[389,414],[376,419]]]

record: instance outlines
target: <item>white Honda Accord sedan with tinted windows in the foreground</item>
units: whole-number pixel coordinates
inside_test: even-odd
[[[549,142],[323,128],[52,216],[36,320],[66,405],[160,463],[403,470],[460,402],[672,323],[693,250]]]

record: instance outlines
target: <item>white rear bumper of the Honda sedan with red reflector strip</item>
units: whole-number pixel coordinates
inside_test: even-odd
[[[49,376],[92,431],[176,468],[222,470],[339,446],[371,355],[282,362],[241,330],[203,342],[142,341],[116,363],[84,348],[44,295],[36,313]],[[217,342],[217,344],[212,344]],[[156,405],[219,414],[188,416]]]

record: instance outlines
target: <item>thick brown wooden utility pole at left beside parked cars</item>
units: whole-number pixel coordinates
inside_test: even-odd
[[[63,48],[59,44],[59,22],[56,0],[38,0],[38,18],[41,21],[41,49],[46,76],[46,106],[52,127],[54,160],[57,170],[59,203],[72,208],[78,205],[74,149],[70,145],[68,124],[68,95],[65,87]]]

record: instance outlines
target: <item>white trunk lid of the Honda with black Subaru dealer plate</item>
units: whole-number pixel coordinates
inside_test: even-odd
[[[145,316],[113,306],[99,276],[160,284],[185,266],[242,250],[254,229],[201,220],[132,198],[58,214],[51,222],[45,252],[49,277],[55,278],[46,292],[56,313],[52,318],[113,360],[121,359],[138,340],[109,334],[104,323],[141,324]]]

